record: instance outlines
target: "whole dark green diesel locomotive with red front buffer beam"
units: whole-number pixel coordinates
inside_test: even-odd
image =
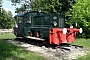
[[[14,16],[14,34],[17,37],[26,37],[45,41],[49,38],[50,44],[74,42],[76,33],[82,33],[82,28],[65,28],[65,15],[61,13],[27,12]]]

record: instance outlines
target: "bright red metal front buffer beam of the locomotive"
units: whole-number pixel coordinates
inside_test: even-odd
[[[79,29],[66,28],[69,30],[66,34],[63,33],[63,28],[51,28],[50,29],[50,44],[61,44],[67,42],[74,42],[76,40],[76,33]]]

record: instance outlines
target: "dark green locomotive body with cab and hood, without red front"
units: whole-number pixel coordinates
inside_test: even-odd
[[[61,13],[45,14],[33,11],[18,14],[14,18],[14,34],[17,37],[48,38],[50,28],[65,27],[65,15]]]

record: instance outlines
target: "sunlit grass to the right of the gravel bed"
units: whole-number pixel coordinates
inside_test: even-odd
[[[78,58],[77,60],[90,60],[90,39],[77,39],[74,44],[80,45],[80,46],[84,46],[86,48],[88,48],[87,55],[86,56],[82,56],[80,58]]]

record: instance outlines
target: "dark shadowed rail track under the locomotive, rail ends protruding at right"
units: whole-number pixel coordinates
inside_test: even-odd
[[[36,45],[39,47],[45,46],[46,48],[52,48],[52,49],[56,49],[57,51],[63,51],[63,52],[65,52],[65,51],[70,52],[70,51],[74,51],[74,50],[84,50],[83,46],[73,45],[73,44],[68,44],[68,43],[62,43],[60,45],[51,45],[46,42],[37,41],[37,40],[33,40],[33,39],[26,39],[26,38],[17,38],[15,40],[29,43],[32,45]]]

